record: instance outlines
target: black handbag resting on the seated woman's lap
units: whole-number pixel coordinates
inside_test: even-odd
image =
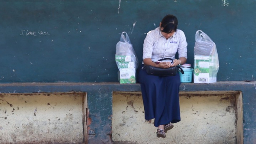
[[[162,60],[172,60],[171,58],[163,58],[158,61]],[[173,62],[173,60],[172,60]],[[182,74],[184,74],[184,71],[179,66],[172,66],[170,68],[156,68],[154,66],[144,66],[143,67],[146,70],[146,73],[149,75],[154,76],[175,76],[178,71],[180,71]]]

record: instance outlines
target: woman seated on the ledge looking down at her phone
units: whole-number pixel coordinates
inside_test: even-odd
[[[165,138],[165,133],[180,121],[179,88],[180,76],[148,75],[144,65],[158,68],[170,68],[186,63],[187,42],[184,32],[177,29],[178,20],[174,15],[166,15],[160,26],[148,32],[143,44],[143,63],[138,73],[145,111],[145,119],[154,118],[154,126],[158,127],[156,136]],[[175,55],[178,52],[178,59]],[[162,58],[172,58],[174,61]]]

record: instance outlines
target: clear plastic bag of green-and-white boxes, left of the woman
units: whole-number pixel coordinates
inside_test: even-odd
[[[124,33],[126,36],[124,36]],[[136,83],[136,69],[138,58],[126,32],[122,32],[120,41],[116,44],[116,65],[118,66],[118,80],[123,83]]]

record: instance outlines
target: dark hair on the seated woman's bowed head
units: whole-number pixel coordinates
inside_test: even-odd
[[[171,33],[173,30],[176,32],[177,26],[178,19],[176,18],[176,16],[168,14],[162,19],[160,29],[164,28],[163,30],[161,30],[161,32],[165,32],[168,34]]]

